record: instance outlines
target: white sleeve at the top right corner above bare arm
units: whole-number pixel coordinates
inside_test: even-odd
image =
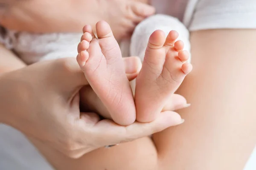
[[[190,0],[183,23],[189,31],[256,28],[256,0]]]

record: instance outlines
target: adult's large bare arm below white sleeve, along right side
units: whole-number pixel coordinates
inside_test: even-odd
[[[191,34],[183,125],[153,136],[161,170],[241,170],[256,144],[256,30]]]

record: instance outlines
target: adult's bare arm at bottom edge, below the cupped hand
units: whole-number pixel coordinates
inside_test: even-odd
[[[110,148],[100,148],[79,159],[35,143],[41,153],[57,170],[156,170],[157,151],[149,137],[122,143]]]

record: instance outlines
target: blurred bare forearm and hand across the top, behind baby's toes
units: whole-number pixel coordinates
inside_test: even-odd
[[[137,23],[155,12],[145,0],[9,0],[1,5],[0,24],[9,29],[80,32],[85,24],[106,20],[117,40],[129,37]]]

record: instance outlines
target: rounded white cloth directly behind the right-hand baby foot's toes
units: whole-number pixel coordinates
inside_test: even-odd
[[[164,31],[166,36],[171,30],[176,30],[179,33],[177,40],[182,40],[184,42],[184,50],[187,50],[190,53],[189,31],[183,23],[177,18],[157,14],[148,17],[135,28],[131,37],[130,55],[138,56],[143,60],[148,45],[148,39],[150,35],[158,29]]]

